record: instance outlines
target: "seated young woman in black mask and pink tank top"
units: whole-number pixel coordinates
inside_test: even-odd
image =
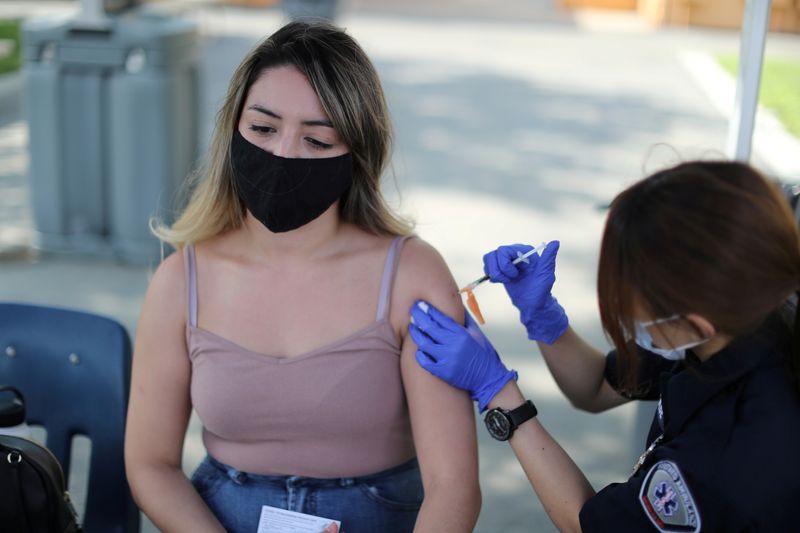
[[[263,505],[347,533],[472,530],[472,405],[416,365],[406,312],[463,309],[381,196],[390,130],[372,64],[332,26],[290,23],[235,72],[202,180],[156,227],[181,253],[136,336],[127,473],[162,531],[254,533]],[[193,408],[208,456],[190,482]]]

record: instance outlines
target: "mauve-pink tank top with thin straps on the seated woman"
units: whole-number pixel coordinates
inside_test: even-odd
[[[191,398],[215,459],[253,474],[350,477],[415,456],[400,339],[389,322],[399,250],[389,247],[375,322],[286,358],[249,351],[197,327],[197,270],[184,249]]]

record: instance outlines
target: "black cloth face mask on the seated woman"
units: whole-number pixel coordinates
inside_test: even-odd
[[[305,226],[341,198],[353,181],[350,153],[287,159],[233,133],[231,164],[239,198],[271,232]]]

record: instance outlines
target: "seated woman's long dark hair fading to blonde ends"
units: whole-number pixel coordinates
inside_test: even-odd
[[[244,58],[228,86],[206,161],[190,177],[186,208],[171,226],[151,223],[162,241],[181,249],[242,225],[245,207],[234,187],[230,147],[251,85],[270,68],[302,72],[353,157],[353,183],[339,215],[376,235],[407,235],[411,224],[392,212],[380,191],[392,130],[378,74],[358,43],[328,23],[291,22]]]

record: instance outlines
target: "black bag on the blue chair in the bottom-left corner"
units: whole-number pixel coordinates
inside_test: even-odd
[[[80,533],[78,515],[53,453],[0,435],[0,533]]]

